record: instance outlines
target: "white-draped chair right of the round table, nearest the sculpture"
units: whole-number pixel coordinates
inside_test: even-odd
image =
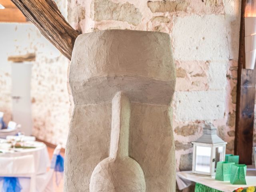
[[[53,152],[52,164],[56,162],[56,156],[60,154],[61,146],[58,145]],[[54,164],[55,165],[55,164]],[[54,192],[53,186],[54,167],[51,166],[50,170],[45,174],[36,176],[36,191],[37,192]]]

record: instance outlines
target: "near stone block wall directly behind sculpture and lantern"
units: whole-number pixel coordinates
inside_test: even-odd
[[[218,127],[227,152],[234,152],[240,1],[70,0],[69,6],[70,24],[84,33],[130,29],[170,34],[177,70],[177,169],[191,168],[190,142],[206,122]]]

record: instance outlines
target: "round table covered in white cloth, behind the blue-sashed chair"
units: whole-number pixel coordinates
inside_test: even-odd
[[[10,143],[1,140],[0,142],[0,157],[20,157],[26,155],[34,156],[34,165],[36,174],[46,173],[50,166],[50,158],[47,147],[42,142],[30,141],[26,144],[34,148],[12,148]],[[22,166],[22,165],[21,165]]]

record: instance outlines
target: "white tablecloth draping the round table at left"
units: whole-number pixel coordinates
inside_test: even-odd
[[[36,148],[16,148],[16,151],[12,153],[0,153],[0,157],[18,157],[24,155],[33,155],[35,161],[36,174],[46,173],[47,168],[50,166],[50,158],[47,147],[42,142],[34,141],[34,143],[36,145]]]

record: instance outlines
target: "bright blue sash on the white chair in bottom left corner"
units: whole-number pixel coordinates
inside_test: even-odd
[[[2,192],[20,192],[22,190],[19,179],[16,177],[1,177],[0,180],[4,180]]]

